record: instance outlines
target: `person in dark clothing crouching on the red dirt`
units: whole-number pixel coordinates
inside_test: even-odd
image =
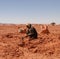
[[[26,30],[26,36],[32,39],[37,38],[37,31],[31,24],[26,24],[27,30]]]

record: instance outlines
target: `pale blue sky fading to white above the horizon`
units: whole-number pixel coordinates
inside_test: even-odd
[[[60,24],[60,0],[0,0],[0,23]]]

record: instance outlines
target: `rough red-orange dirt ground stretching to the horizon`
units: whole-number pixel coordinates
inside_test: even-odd
[[[0,59],[60,59],[60,25],[48,25],[49,34],[41,33],[40,24],[33,26],[38,39],[29,41],[18,33],[25,25],[0,24]]]

